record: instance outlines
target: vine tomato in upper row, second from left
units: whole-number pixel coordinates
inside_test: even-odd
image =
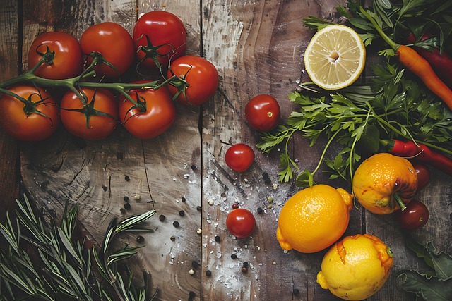
[[[117,77],[126,72],[135,59],[133,39],[129,32],[117,23],[104,22],[88,27],[81,36],[80,44],[83,54],[98,52],[117,68],[114,70],[105,63],[97,64],[94,70],[98,76]],[[88,63],[92,61],[93,58],[88,56]]]

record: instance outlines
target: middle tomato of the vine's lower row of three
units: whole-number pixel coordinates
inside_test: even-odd
[[[82,90],[88,99],[85,106],[74,92],[68,91],[64,94],[60,104],[61,122],[72,135],[86,140],[103,139],[116,128],[118,104],[109,90]],[[105,113],[111,117],[98,115]]]

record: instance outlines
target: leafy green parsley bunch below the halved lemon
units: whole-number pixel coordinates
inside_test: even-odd
[[[293,92],[291,102],[300,109],[293,111],[287,126],[280,125],[272,133],[264,133],[256,146],[268,153],[284,143],[280,155],[280,182],[292,179],[297,164],[288,152],[289,140],[301,131],[310,146],[323,135],[326,146],[314,171],[297,176],[297,185],[312,185],[313,176],[323,161],[330,178],[348,180],[362,156],[379,150],[384,139],[415,140],[446,154],[452,154],[452,113],[429,90],[403,75],[404,69],[390,64],[373,68],[370,85],[352,85],[339,92],[311,97],[308,92]],[[302,85],[306,87],[306,85]],[[309,88],[311,90],[311,88]],[[333,159],[326,159],[327,149],[342,147]]]

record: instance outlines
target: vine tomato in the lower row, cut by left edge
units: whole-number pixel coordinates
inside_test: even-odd
[[[0,125],[8,135],[23,141],[39,141],[47,139],[57,130],[60,122],[59,107],[44,89],[18,85],[10,87],[8,91],[30,101],[25,106],[8,94],[3,94],[0,98]],[[34,112],[34,109],[39,112]]]

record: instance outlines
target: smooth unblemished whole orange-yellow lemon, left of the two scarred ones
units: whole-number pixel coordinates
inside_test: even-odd
[[[352,195],[342,188],[314,185],[300,190],[278,216],[276,238],[284,250],[319,252],[336,242],[347,229]]]

